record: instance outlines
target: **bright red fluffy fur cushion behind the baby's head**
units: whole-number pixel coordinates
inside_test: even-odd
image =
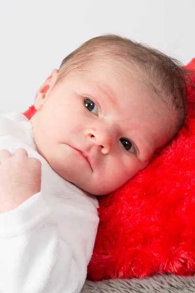
[[[195,59],[186,68],[195,72]],[[195,76],[192,74],[195,83]],[[24,114],[35,113],[31,106]],[[195,87],[187,119],[151,164],[116,192],[99,197],[100,224],[88,278],[195,273]]]

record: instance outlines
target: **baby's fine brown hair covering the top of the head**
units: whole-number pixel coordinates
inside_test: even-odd
[[[170,109],[175,121],[175,134],[186,119],[186,78],[188,72],[176,59],[138,42],[117,35],[104,35],[83,43],[70,53],[59,67],[57,83],[76,71],[84,72],[92,64],[112,59],[122,64],[152,91]]]

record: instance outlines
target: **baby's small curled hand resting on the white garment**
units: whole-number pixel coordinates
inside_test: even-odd
[[[0,150],[0,212],[20,206],[40,191],[41,163],[29,158],[25,149],[19,148],[14,156],[6,149]]]

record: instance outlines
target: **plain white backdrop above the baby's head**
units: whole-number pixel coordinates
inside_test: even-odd
[[[195,57],[195,0],[0,0],[0,112],[27,109],[68,53],[105,33],[188,63]]]

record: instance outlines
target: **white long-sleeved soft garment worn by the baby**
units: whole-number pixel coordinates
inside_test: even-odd
[[[78,293],[98,228],[98,201],[62,179],[37,152],[21,114],[0,116],[0,149],[41,161],[41,191],[0,214],[0,293]]]

